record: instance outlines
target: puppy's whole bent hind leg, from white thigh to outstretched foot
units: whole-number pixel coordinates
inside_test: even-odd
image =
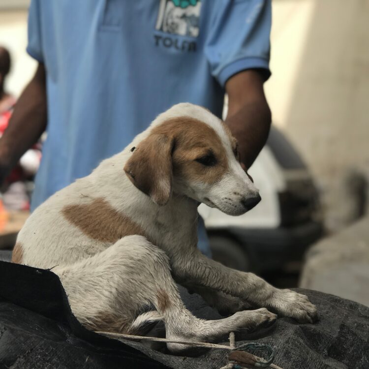
[[[53,271],[60,276],[77,319],[96,331],[137,333],[145,320],[137,317],[137,311],[145,305],[154,306],[147,318],[163,319],[169,339],[212,341],[276,319],[264,308],[220,320],[196,318],[180,298],[167,255],[141,236],[124,237],[89,259]],[[168,348],[187,347],[168,343]]]

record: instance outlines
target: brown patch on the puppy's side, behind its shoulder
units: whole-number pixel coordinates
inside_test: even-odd
[[[68,205],[62,214],[83,233],[94,240],[115,243],[124,236],[144,236],[142,228],[119,213],[102,198],[90,204]]]

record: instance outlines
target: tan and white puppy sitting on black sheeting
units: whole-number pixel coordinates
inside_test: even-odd
[[[275,320],[267,308],[313,322],[306,296],[224,267],[196,247],[200,202],[240,215],[259,200],[226,125],[202,107],[178,104],[39,206],[19,233],[13,262],[56,266],[73,313],[92,330],[138,334],[146,321],[163,320],[167,338],[215,340]],[[196,318],[175,281],[234,314]],[[154,310],[142,313],[147,306]]]

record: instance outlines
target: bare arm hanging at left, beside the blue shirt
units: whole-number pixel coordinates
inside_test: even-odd
[[[0,184],[20,157],[46,129],[46,74],[42,63],[19,97],[9,125],[0,138]]]

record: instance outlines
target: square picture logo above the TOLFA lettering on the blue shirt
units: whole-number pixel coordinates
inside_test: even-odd
[[[155,29],[180,36],[197,37],[200,0],[160,0]]]

